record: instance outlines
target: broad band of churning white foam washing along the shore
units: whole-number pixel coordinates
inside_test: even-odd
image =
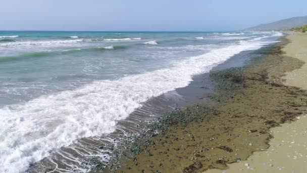
[[[111,133],[118,120],[127,118],[150,97],[187,86],[192,75],[209,72],[241,51],[260,47],[259,41],[245,41],[187,58],[170,68],[97,80],[77,90],[6,106],[0,109],[0,172],[24,172],[49,151],[80,138]]]

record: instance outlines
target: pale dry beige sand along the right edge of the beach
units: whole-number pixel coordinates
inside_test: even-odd
[[[307,90],[307,33],[289,32],[290,43],[283,49],[286,56],[305,62],[300,68],[287,72],[285,84]],[[273,139],[267,151],[255,152],[246,161],[228,164],[226,170],[211,169],[213,172],[307,172],[307,117],[271,129]]]

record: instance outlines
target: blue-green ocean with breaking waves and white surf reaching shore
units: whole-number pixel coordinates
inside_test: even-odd
[[[88,172],[115,157],[102,143],[135,135],[118,122],[149,99],[280,36],[0,31],[0,172]]]

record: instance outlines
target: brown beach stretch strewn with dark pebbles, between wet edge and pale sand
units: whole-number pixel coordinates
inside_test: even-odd
[[[227,163],[268,149],[270,128],[293,121],[305,110],[302,105],[307,100],[304,91],[282,84],[285,72],[303,64],[282,55],[287,44],[282,38],[274,46],[254,51],[261,57],[254,56],[249,65],[212,71],[217,94],[210,97],[216,104],[194,105],[161,117],[128,147],[121,164],[98,172],[225,169]]]

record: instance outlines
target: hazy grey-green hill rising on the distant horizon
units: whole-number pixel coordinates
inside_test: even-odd
[[[301,17],[292,17],[288,19],[283,19],[272,23],[261,24],[244,30],[257,30],[257,31],[285,30],[293,27],[303,26],[306,24],[307,24],[307,16],[301,16]]]

